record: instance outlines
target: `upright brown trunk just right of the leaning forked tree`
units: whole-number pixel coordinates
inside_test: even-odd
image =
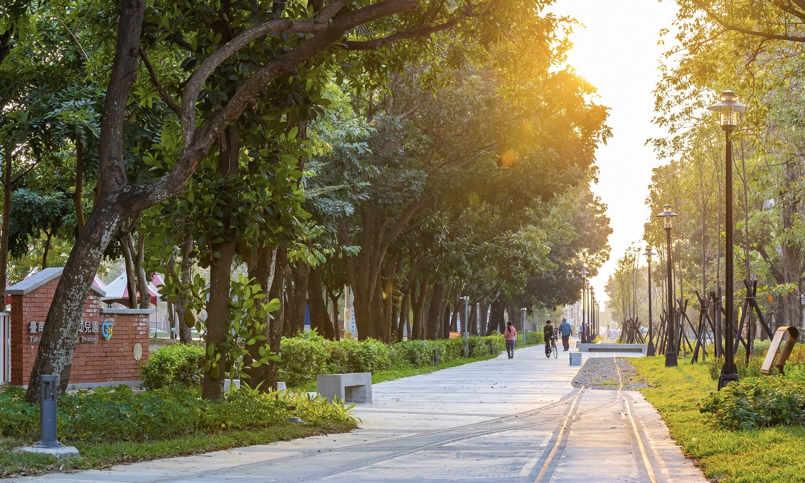
[[[237,135],[237,123],[229,126],[221,136],[221,155],[218,156],[218,171],[226,177],[237,175],[239,171],[240,138]],[[209,268],[209,299],[207,301],[207,336],[205,345],[214,345],[215,350],[208,361],[217,361],[218,367],[210,365],[204,371],[204,380],[201,383],[201,397],[205,399],[219,399],[224,394],[224,379],[226,377],[226,334],[229,332],[229,291],[232,288],[232,262],[235,256],[237,235],[231,226],[229,217],[221,220],[225,229],[223,241],[210,246]],[[215,258],[212,254],[221,254]]]

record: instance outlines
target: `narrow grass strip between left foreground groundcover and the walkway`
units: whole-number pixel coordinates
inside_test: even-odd
[[[14,448],[35,443],[35,441],[0,438],[0,477],[13,477],[20,473],[35,475],[70,469],[109,468],[113,464],[239,448],[251,444],[295,440],[307,436],[347,432],[351,429],[353,429],[351,425],[314,426],[312,424],[279,423],[273,427],[254,431],[222,431],[215,435],[195,434],[150,443],[68,442],[67,444],[78,448],[81,456],[64,460],[14,450]]]

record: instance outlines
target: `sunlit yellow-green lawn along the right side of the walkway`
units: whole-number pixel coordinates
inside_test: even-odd
[[[665,367],[665,357],[629,361],[653,388],[642,389],[663,416],[671,436],[694,458],[711,481],[805,482],[805,427],[770,427],[749,431],[716,429],[696,404],[716,381],[704,364]]]

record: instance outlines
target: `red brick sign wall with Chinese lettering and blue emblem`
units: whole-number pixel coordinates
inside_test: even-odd
[[[57,277],[25,295],[11,295],[11,384],[15,386],[28,383],[42,324],[58,283]],[[100,296],[90,291],[81,317],[82,331],[76,334],[69,382],[138,381],[140,365],[148,360],[148,315],[103,313],[101,307]],[[102,333],[104,322],[113,324],[109,340]],[[142,345],[139,361],[134,359],[137,343]]]

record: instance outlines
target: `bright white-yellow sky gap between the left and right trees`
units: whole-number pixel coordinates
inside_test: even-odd
[[[592,279],[596,298],[603,302],[604,286],[615,261],[632,242],[640,242],[649,216],[645,200],[651,168],[659,162],[647,138],[663,131],[651,123],[658,81],[658,60],[667,46],[657,45],[661,28],[671,28],[673,0],[558,0],[551,9],[583,24],[573,35],[569,64],[598,89],[599,101],[611,108],[608,124],[613,137],[597,152],[599,181],[593,192],[609,205],[613,233],[609,262]],[[640,244],[642,246],[642,243]]]

